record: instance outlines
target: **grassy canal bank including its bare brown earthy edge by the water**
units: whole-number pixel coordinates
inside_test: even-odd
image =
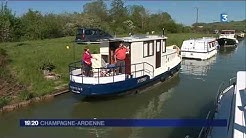
[[[214,37],[214,34],[167,34],[167,45],[181,46],[183,40]],[[76,44],[74,37],[0,43],[0,112],[68,92],[68,65],[81,60],[85,46],[99,53],[99,44]],[[57,75],[47,79],[43,70]],[[23,103],[24,102],[24,103]]]

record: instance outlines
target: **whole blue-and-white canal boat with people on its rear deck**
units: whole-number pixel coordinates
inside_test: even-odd
[[[100,53],[92,56],[92,76],[83,75],[81,61],[69,65],[71,92],[85,97],[121,95],[165,81],[179,71],[181,56],[177,46],[166,46],[164,35],[134,35],[113,38],[100,45]],[[129,52],[125,59],[125,73],[117,73],[114,51],[124,43]]]

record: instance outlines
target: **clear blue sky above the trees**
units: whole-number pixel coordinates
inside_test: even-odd
[[[25,14],[28,9],[38,10],[42,13],[82,12],[83,5],[92,2],[90,0],[44,0],[44,1],[8,1],[8,7],[17,16]],[[106,1],[108,9],[110,1]],[[176,23],[192,25],[196,22],[198,9],[198,22],[219,22],[220,14],[226,13],[229,21],[241,21],[246,19],[246,1],[178,1],[178,0],[126,0],[125,6],[143,5],[150,13],[167,12]]]

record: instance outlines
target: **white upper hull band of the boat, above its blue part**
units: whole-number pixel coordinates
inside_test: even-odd
[[[148,63],[142,62],[131,65],[131,73],[129,74],[117,74],[114,69],[110,68],[98,68],[93,69],[93,76],[86,77],[82,75],[81,68],[73,68],[70,72],[70,80],[72,82],[81,83],[81,84],[107,84],[113,82],[120,82],[130,78],[138,78],[144,75],[148,75],[150,79],[154,78],[157,75],[167,72],[170,69],[174,68],[180,63],[180,57],[176,56],[177,50],[171,47],[167,47],[165,55],[162,56],[163,63],[162,67],[154,68]],[[165,60],[164,60],[165,59]],[[169,61],[170,60],[170,61]],[[109,70],[111,70],[110,73]]]

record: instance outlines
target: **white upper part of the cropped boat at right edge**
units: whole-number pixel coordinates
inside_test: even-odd
[[[237,72],[234,138],[246,137],[246,71]],[[241,108],[240,108],[241,107]],[[243,110],[242,110],[243,109]]]

